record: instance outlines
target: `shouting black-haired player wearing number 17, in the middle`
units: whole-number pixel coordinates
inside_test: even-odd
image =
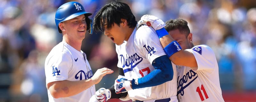
[[[116,43],[117,66],[121,70],[113,87],[100,88],[90,102],[120,98],[135,102],[177,102],[177,75],[160,44],[156,31],[137,21],[122,2],[103,6],[93,28]],[[159,25],[163,26],[163,25]],[[128,92],[128,95],[123,92]],[[121,94],[121,95],[120,95]]]

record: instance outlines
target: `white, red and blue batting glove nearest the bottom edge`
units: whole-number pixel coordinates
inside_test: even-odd
[[[95,92],[95,97],[100,102],[107,102],[110,99],[111,92],[108,89],[100,88]]]

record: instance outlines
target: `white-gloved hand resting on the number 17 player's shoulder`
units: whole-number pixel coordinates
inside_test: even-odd
[[[157,18],[156,16],[153,15],[143,15],[140,18],[140,21],[137,24],[137,29],[141,26],[141,25],[148,25],[150,27],[152,27],[155,30],[161,29],[165,26],[165,23],[163,20]]]

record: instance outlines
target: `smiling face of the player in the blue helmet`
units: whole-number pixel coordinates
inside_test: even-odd
[[[63,26],[69,38],[74,40],[84,39],[87,27],[84,15],[64,21]]]

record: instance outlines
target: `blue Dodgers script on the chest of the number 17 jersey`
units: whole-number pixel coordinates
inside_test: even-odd
[[[135,53],[131,56],[128,56],[127,54],[126,54],[126,56],[120,55],[120,59],[123,64],[123,68],[125,66],[130,67],[131,70],[129,70],[129,71],[132,71],[132,69],[134,67],[136,67],[136,65],[138,65],[143,60],[143,58],[140,57],[137,53]]]

